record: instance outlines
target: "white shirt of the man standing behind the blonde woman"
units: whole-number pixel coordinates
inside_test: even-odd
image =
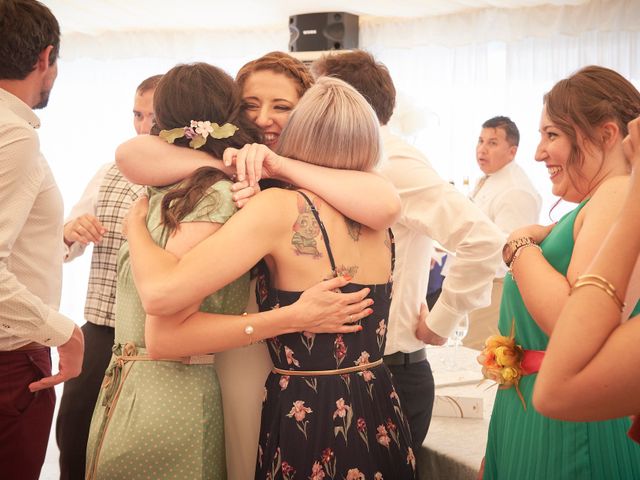
[[[419,150],[387,127],[380,131],[386,156],[381,173],[395,185],[402,203],[400,219],[392,227],[396,268],[385,349],[389,355],[424,347],[415,331],[426,297],[433,240],[456,256],[427,317],[432,331],[448,337],[462,316],[489,304],[504,238]]]

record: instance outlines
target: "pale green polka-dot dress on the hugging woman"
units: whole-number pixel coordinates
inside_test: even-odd
[[[182,222],[226,222],[235,212],[230,185],[224,180],[210,187]],[[149,198],[147,226],[161,246],[167,242],[160,222],[167,191],[150,189]],[[244,275],[207,297],[200,310],[240,314],[248,295],[249,276]],[[144,322],[125,243],[118,256],[115,344],[91,421],[87,478],[225,479],[222,400],[215,366],[150,360]],[[118,358],[123,354],[136,359],[123,362]]]

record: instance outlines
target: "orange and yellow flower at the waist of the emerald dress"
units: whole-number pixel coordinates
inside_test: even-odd
[[[524,409],[527,405],[518,384],[524,375],[522,359],[524,350],[515,340],[515,319],[511,324],[511,334],[492,335],[484,343],[484,349],[478,355],[478,363],[482,365],[482,375],[496,382],[498,388],[514,387]]]

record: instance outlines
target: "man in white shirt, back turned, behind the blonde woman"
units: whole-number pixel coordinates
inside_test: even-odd
[[[440,178],[420,151],[386,127],[396,92],[384,65],[356,50],[322,57],[311,68],[316,75],[335,76],[355,87],[381,125],[386,154],[381,173],[396,186],[402,202],[401,217],[392,227],[396,265],[384,361],[393,373],[417,450],[427,434],[434,401],[425,344],[442,345],[464,315],[488,304],[491,279],[501,259],[502,235],[476,206]],[[423,302],[433,240],[455,252],[457,261],[428,312]]]

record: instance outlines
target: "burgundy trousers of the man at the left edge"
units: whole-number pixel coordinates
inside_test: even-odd
[[[0,477],[38,480],[56,403],[53,388],[29,384],[51,375],[49,348],[0,352]]]

